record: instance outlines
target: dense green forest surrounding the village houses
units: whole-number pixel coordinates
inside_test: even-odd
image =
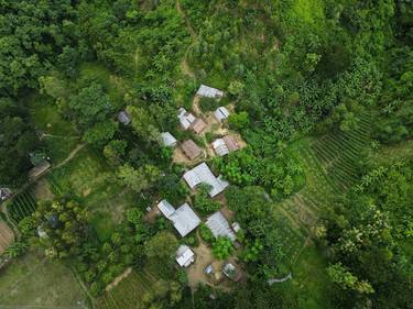
[[[2,258],[40,249],[98,309],[413,308],[411,1],[1,1],[0,33],[0,188],[15,192],[1,220],[17,235]],[[200,98],[198,111],[202,84],[225,96]],[[221,135],[180,129],[177,110],[220,106],[246,147],[205,159],[230,184],[211,199],[208,186],[191,194],[192,165],[161,133],[207,148]],[[52,168],[33,179],[36,154]],[[36,192],[35,209],[14,216],[42,181],[47,198]],[[202,218],[224,200],[239,247],[204,223],[181,239],[162,216],[149,220],[162,199]],[[284,210],[298,199],[314,216],[303,225]],[[285,230],[305,235],[302,251],[290,252]],[[191,286],[174,254],[199,243],[235,258],[244,279]],[[295,277],[307,247],[323,288]],[[155,274],[153,288],[101,305],[129,267]],[[293,284],[269,284],[285,276]]]

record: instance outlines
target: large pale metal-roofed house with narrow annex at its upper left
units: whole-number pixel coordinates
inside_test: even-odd
[[[189,234],[200,223],[198,216],[186,202],[175,210],[167,200],[161,200],[157,203],[157,209],[172,221],[174,228],[183,238]]]

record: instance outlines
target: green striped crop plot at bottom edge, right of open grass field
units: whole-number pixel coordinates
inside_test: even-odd
[[[96,309],[134,309],[146,291],[153,290],[156,278],[146,271],[133,271],[97,301]]]

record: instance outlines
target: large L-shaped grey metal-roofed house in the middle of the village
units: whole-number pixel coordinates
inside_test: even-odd
[[[229,186],[221,176],[215,177],[205,162],[186,172],[183,177],[191,189],[196,188],[200,184],[209,185],[210,190],[208,194],[211,198],[222,192]]]

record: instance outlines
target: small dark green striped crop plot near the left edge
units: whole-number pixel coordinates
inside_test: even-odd
[[[14,223],[19,223],[25,217],[31,216],[37,208],[33,186],[17,195],[7,208],[10,219]]]

